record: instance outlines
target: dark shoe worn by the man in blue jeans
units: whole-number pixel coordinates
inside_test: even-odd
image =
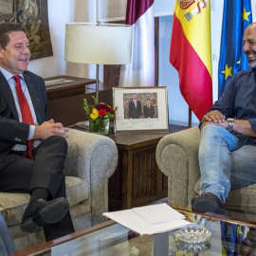
[[[231,213],[224,209],[224,204],[219,197],[211,192],[206,192],[205,194],[193,198],[192,210],[200,210],[202,212],[212,212],[231,216]]]

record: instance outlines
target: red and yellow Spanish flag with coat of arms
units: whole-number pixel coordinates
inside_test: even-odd
[[[212,106],[210,0],[176,0],[170,62],[197,119]]]

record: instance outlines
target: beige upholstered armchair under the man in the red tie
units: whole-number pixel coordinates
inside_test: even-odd
[[[104,221],[108,210],[108,179],[118,164],[118,149],[109,137],[69,129],[65,164],[66,193],[76,230]],[[29,194],[0,192],[0,210],[16,251],[45,242],[43,229],[27,234],[20,229]]]

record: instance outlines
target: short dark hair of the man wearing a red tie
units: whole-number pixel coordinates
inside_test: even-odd
[[[0,24],[0,46],[5,49],[9,44],[9,33],[13,31],[23,31],[27,33],[26,27],[20,23],[2,23]]]

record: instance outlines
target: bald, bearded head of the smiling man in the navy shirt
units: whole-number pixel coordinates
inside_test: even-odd
[[[244,52],[250,67],[256,66],[256,23],[250,24],[245,30]]]

